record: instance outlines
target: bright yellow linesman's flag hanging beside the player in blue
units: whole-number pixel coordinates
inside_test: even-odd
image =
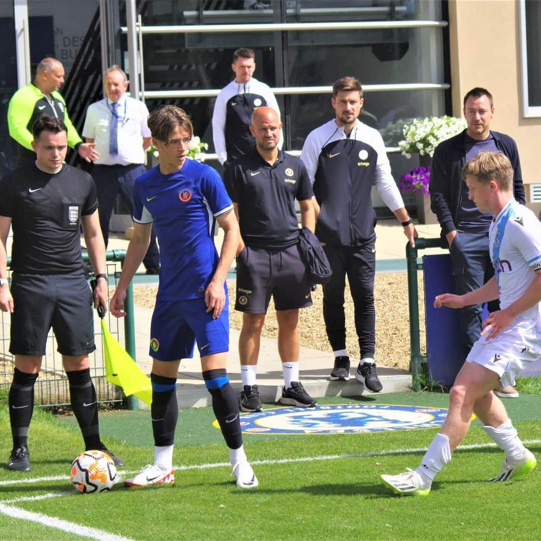
[[[105,375],[107,381],[122,387],[124,394],[134,394],[147,406],[152,403],[150,379],[128,355],[105,326],[102,318],[103,346],[105,349]]]

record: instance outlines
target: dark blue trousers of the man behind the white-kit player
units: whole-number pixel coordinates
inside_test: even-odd
[[[487,233],[460,233],[454,237],[449,248],[453,264],[454,287],[457,295],[478,289],[494,276],[490,260],[489,235]],[[489,302],[489,312],[499,310],[499,301]],[[464,354],[470,353],[481,333],[483,305],[460,308],[460,341]]]

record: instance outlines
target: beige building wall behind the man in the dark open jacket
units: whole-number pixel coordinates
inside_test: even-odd
[[[450,0],[453,115],[462,115],[462,98],[485,87],[494,98],[491,128],[517,142],[525,184],[541,182],[538,170],[541,118],[522,116],[519,3],[516,0]],[[529,202],[529,188],[526,201]],[[528,203],[539,213],[541,203]]]

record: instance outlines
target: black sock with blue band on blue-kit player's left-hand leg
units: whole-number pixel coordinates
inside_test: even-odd
[[[176,400],[176,378],[150,373],[152,384],[152,405],[150,418],[154,445],[164,447],[175,441],[176,421],[179,417],[179,404]]]

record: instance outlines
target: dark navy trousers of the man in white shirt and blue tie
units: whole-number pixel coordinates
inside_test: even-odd
[[[133,164],[130,166],[101,166],[95,165],[92,168],[92,177],[96,183],[98,194],[98,212],[100,214],[100,227],[105,241],[105,248],[109,241],[109,221],[113,208],[115,206],[116,194],[120,195],[126,206],[133,215],[133,188],[135,179],[146,173],[147,169],[143,165]],[[149,269],[160,268],[160,252],[156,244],[156,234],[154,227],[150,233],[150,245],[147,254],[144,256],[143,265]]]

